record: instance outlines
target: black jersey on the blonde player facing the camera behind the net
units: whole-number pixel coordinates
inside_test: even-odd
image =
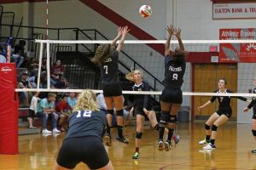
[[[142,82],[139,85],[134,84],[133,91],[150,91],[148,82]],[[150,109],[150,96],[148,94],[136,94],[134,95],[133,107],[143,107]]]

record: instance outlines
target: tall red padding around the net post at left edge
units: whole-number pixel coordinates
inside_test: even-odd
[[[0,154],[18,154],[16,67],[0,63]]]

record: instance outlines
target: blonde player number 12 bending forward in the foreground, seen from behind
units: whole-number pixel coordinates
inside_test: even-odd
[[[55,170],[73,169],[84,162],[90,169],[112,170],[102,144],[107,118],[96,105],[96,94],[84,90],[68,118],[69,128],[55,162]]]

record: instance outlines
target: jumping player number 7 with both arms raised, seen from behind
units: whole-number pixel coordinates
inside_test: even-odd
[[[123,95],[119,84],[118,75],[118,59],[121,48],[123,47],[125,36],[130,31],[128,26],[119,27],[118,35],[113,39],[111,44],[102,44],[96,49],[96,55],[91,59],[92,62],[97,63],[101,67],[102,88],[104,99],[108,108],[107,118],[108,127],[107,133],[104,137],[107,145],[111,145],[110,128],[112,127],[113,106],[116,109],[117,125],[118,125],[118,139],[127,144],[128,141],[123,136]],[[119,40],[118,47],[115,49],[115,43]]]

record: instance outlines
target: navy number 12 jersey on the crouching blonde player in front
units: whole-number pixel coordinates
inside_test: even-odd
[[[107,123],[102,111],[75,111],[68,118],[69,128],[66,139],[96,136],[102,139]]]

